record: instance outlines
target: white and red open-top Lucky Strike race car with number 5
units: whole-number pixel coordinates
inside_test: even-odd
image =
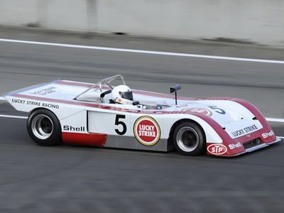
[[[55,80],[3,97],[16,110],[29,112],[28,134],[40,146],[64,142],[235,156],[280,141],[249,102],[178,97],[179,89],[170,87],[175,95],[130,89],[122,75],[115,75],[97,84]]]

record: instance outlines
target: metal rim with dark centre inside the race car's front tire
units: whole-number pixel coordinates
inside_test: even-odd
[[[185,152],[195,151],[195,148],[197,148],[200,143],[200,137],[197,131],[189,126],[182,127],[182,129],[178,131],[176,139],[180,149]]]

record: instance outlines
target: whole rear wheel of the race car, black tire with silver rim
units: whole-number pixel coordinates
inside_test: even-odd
[[[40,146],[55,146],[62,142],[58,117],[48,109],[36,109],[28,116],[29,136]]]

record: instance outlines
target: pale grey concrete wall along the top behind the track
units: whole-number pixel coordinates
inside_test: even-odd
[[[283,0],[0,0],[0,24],[27,23],[75,31],[284,45]]]

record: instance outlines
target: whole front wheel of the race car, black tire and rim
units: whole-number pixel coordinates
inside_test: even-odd
[[[198,124],[190,121],[182,122],[173,131],[173,144],[182,155],[200,155],[205,151],[204,131]]]

